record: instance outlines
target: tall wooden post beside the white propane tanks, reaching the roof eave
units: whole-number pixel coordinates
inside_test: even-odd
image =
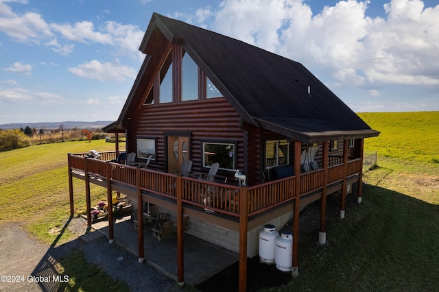
[[[293,213],[293,267],[292,276],[299,276],[299,213],[300,213],[300,154],[302,142],[294,142],[294,174],[296,174],[296,189],[294,190]]]

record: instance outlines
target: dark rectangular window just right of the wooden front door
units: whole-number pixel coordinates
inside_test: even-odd
[[[219,163],[219,169],[235,171],[236,145],[235,143],[203,142],[203,167],[211,167]]]

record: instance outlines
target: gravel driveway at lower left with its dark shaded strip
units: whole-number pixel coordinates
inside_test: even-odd
[[[72,219],[69,229],[84,234],[83,221]],[[88,242],[74,239],[59,246],[43,245],[19,223],[0,224],[0,291],[56,291],[56,282],[36,281],[38,277],[56,276],[58,260],[75,249],[82,250],[88,263],[99,265],[108,275],[125,282],[130,291],[182,291],[174,280],[154,267],[138,263],[136,256],[116,244],[109,245],[105,236]]]

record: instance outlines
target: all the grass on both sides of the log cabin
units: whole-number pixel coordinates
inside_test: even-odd
[[[379,137],[365,141],[366,151],[377,151],[378,167],[364,175],[368,185],[363,203],[347,206],[346,219],[327,224],[328,245],[316,245],[318,226],[302,234],[300,276],[276,291],[437,289],[439,112],[359,116],[381,131]],[[72,239],[68,230],[58,238],[69,219],[67,153],[114,147],[96,140],[0,152],[0,224],[18,221],[43,243]],[[73,181],[75,207],[84,206],[84,182]],[[93,202],[106,197],[105,188],[93,184],[91,188]],[[64,260],[66,266],[72,263],[91,268],[78,254]],[[86,282],[87,277],[77,281]],[[99,276],[93,281],[110,279]]]

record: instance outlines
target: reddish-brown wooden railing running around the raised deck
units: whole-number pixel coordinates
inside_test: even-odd
[[[102,156],[104,157],[104,156]],[[107,158],[114,159],[115,154],[106,154]],[[111,160],[110,159],[110,160]],[[110,164],[107,173],[107,163]],[[137,168],[120,165],[99,159],[86,158],[86,154],[69,155],[69,167],[74,171],[87,171],[88,175],[99,177],[111,182],[137,187]],[[361,159],[348,161],[347,175],[353,175],[361,171]],[[151,169],[139,169],[139,187],[142,191],[177,199],[177,192],[181,192],[182,202],[204,208],[206,212],[219,212],[224,215],[239,217],[241,210],[241,186],[219,184],[195,178],[181,178],[180,190],[177,189],[177,175],[154,171]],[[300,175],[300,195],[307,195],[319,191],[323,187],[324,170],[318,169]],[[344,165],[336,165],[328,168],[328,184],[340,181],[344,178]],[[248,217],[252,217],[270,208],[275,208],[285,202],[290,202],[296,197],[296,175],[248,186]]]

